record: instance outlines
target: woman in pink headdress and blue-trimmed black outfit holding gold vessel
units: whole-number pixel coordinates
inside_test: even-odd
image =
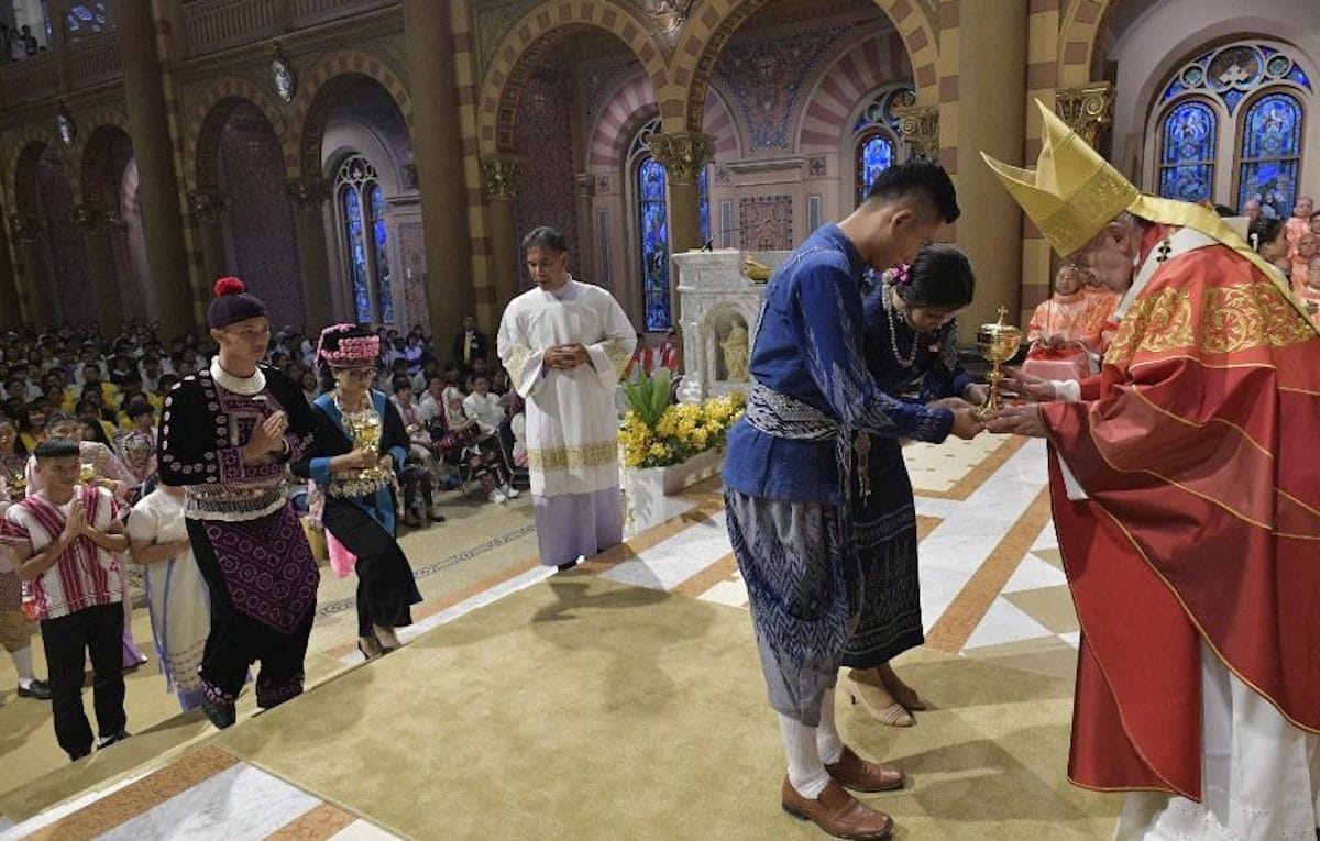
[[[399,647],[395,629],[412,625],[412,605],[421,601],[395,539],[391,478],[408,456],[408,430],[393,402],[370,388],[379,359],[380,339],[372,332],[352,324],[322,331],[317,364],[325,393],[315,402],[317,431],[292,465],[325,494],[321,519],[331,552],[350,555],[358,572],[358,650],[368,660]],[[379,442],[359,448],[354,428],[371,426]],[[372,469],[375,475],[367,472]]]

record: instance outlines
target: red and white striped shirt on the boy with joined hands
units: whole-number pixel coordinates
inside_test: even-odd
[[[127,513],[120,502],[104,488],[79,485],[77,498],[83,502],[87,522],[98,531],[108,531],[111,523]],[[16,502],[0,519],[0,542],[32,544],[41,552],[59,539],[67,509],[55,506],[42,496]],[[84,536],[75,538],[49,569],[26,583],[22,608],[37,621],[55,620],[96,605],[123,601],[124,584],[120,560]]]

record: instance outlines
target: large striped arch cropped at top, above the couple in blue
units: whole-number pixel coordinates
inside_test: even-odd
[[[668,132],[700,132],[706,86],[725,44],[768,0],[710,0],[684,26],[669,72],[659,91],[660,116]],[[920,104],[939,102],[937,38],[925,0],[874,0],[894,22],[907,49]]]

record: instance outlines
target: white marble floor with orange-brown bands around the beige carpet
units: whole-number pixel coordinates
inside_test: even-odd
[[[1071,676],[1077,620],[1049,521],[1044,444],[982,435],[940,447],[912,444],[904,456],[921,536],[927,646]],[[421,556],[409,548],[420,571],[445,568],[449,562],[465,573],[442,597],[428,593],[418,606],[420,621],[401,634],[405,641],[549,575],[527,552],[528,514],[521,506],[474,514],[488,519],[492,534],[510,536],[492,538],[496,546],[480,544],[458,558],[453,552]],[[718,480],[675,498],[664,517],[657,523],[634,523],[634,536],[587,560],[577,575],[744,608],[747,593],[725,531]],[[444,546],[441,540],[433,550]],[[426,593],[425,577],[422,584]],[[347,588],[347,583],[335,587]],[[319,608],[326,610],[345,597],[322,593]],[[341,627],[335,637],[326,637],[325,654],[351,667],[360,659],[351,630]],[[265,804],[260,813],[249,808],[255,791]],[[135,768],[18,820],[0,816],[0,840],[391,837],[360,816],[205,743],[205,736],[164,763]]]

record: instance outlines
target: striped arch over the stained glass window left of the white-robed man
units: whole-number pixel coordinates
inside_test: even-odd
[[[352,75],[367,76],[380,84],[399,108],[409,132],[412,130],[412,95],[384,59],[364,50],[327,55],[302,79],[293,116],[289,119],[289,130],[282,137],[284,163],[290,174],[321,178],[321,141],[331,99],[327,94],[334,91],[337,79]]]

